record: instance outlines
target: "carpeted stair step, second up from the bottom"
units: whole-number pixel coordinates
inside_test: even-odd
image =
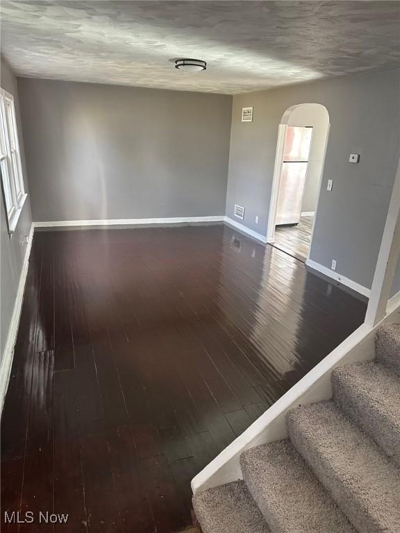
[[[273,533],[354,533],[289,440],[240,456],[247,488]]]

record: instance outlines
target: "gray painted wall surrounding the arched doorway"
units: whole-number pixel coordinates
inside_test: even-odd
[[[235,203],[244,205],[244,225],[267,234],[278,124],[290,105],[322,103],[331,130],[310,258],[325,267],[334,258],[339,273],[371,287],[400,155],[399,94],[397,70],[234,96],[228,217]],[[251,105],[253,122],[241,122]],[[350,153],[360,153],[359,164],[348,162]]]

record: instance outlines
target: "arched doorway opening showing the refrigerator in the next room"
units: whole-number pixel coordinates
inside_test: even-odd
[[[329,114],[319,103],[288,108],[278,130],[267,242],[305,262],[310,256]]]

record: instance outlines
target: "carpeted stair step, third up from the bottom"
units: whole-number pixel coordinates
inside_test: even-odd
[[[292,409],[290,439],[358,532],[400,532],[400,469],[333,401]]]

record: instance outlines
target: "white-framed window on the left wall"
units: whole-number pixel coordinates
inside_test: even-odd
[[[26,196],[15,119],[14,98],[0,88],[0,169],[8,232],[15,231]]]

